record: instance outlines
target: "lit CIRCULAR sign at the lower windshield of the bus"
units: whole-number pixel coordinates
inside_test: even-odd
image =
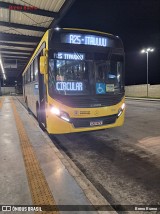
[[[83,91],[82,82],[56,82],[57,91]]]

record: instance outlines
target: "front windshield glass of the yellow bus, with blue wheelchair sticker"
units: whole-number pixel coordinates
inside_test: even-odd
[[[123,56],[87,60],[85,54],[61,52],[57,58],[49,57],[49,93],[51,96],[119,93],[124,87],[123,68]]]

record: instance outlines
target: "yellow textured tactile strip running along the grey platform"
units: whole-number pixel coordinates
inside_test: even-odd
[[[37,160],[36,154],[27,136],[22,120],[17,112],[13,99],[11,99],[11,105],[21,143],[21,150],[25,163],[29,188],[32,196],[32,202],[34,205],[56,205],[53,195],[49,189],[48,183]],[[57,209],[56,211],[52,212],[40,213],[58,214],[59,212]]]

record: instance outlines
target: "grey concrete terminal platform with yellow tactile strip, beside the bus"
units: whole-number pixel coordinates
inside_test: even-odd
[[[0,151],[1,205],[55,207],[52,212],[39,213],[97,213],[67,211],[67,206],[66,210],[57,208],[56,205],[90,206],[91,193],[87,187],[80,187],[74,173],[70,173],[72,169],[64,165],[67,161],[63,155],[16,97],[0,98]],[[99,204],[98,198],[96,203]]]

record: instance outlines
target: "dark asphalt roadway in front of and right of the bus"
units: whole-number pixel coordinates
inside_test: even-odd
[[[160,102],[127,100],[122,127],[57,138],[111,204],[160,204]]]

